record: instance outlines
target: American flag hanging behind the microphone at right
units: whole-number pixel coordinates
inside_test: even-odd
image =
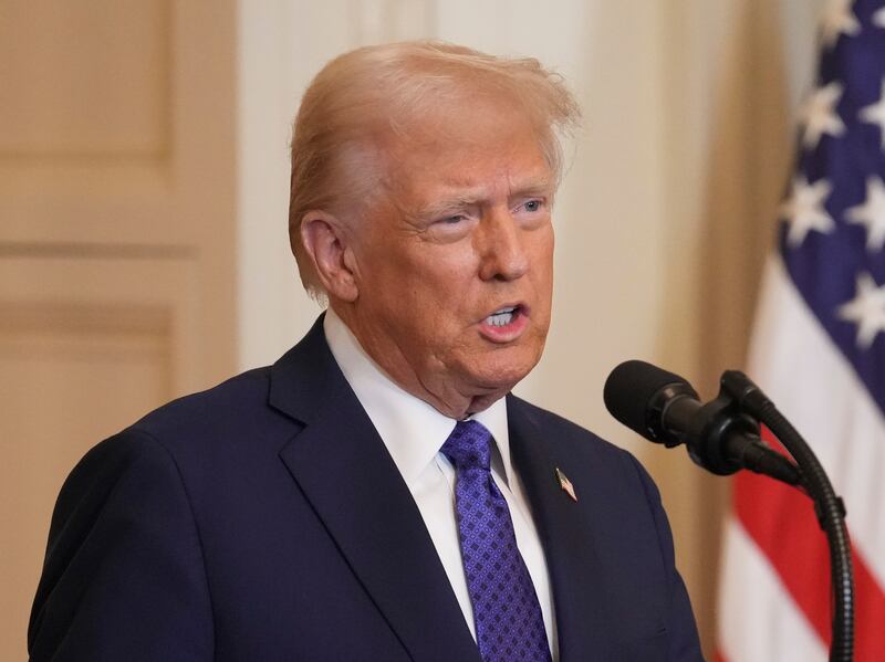
[[[749,374],[811,444],[845,500],[855,660],[885,661],[885,1],[832,0],[801,114],[779,250],[767,265]],[[811,502],[735,480],[717,658],[827,659],[826,540]]]

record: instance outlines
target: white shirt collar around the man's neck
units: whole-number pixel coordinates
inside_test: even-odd
[[[326,311],[323,330],[344,378],[366,410],[406,484],[413,485],[434,461],[457,421],[395,383],[365,353],[332,308]],[[508,484],[512,484],[504,399],[471,418],[491,432],[498,450],[492,452],[493,467]]]

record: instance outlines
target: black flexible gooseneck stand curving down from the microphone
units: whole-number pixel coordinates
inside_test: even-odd
[[[743,372],[727,370],[721,379],[722,392],[730,396],[738,409],[763,423],[780,440],[799,465],[800,486],[814,502],[818,522],[830,546],[830,570],[835,613],[830,662],[854,659],[854,578],[851,542],[845,527],[845,505],[826,476],[823,466],[805,440],[796,432],[771,400]],[[767,473],[767,475],[771,475]],[[781,476],[772,477],[784,481]]]

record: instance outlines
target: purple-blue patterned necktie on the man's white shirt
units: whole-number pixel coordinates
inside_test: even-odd
[[[541,606],[489,471],[491,432],[459,421],[441,451],[455,465],[455,508],[477,644],[485,662],[548,662]]]

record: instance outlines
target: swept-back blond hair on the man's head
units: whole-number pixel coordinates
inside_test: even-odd
[[[413,41],[357,49],[320,71],[295,117],[289,198],[289,239],[311,294],[322,296],[322,286],[301,242],[305,214],[365,204],[383,177],[377,157],[386,139],[407,137],[440,108],[457,111],[478,97],[503,101],[525,116],[559,179],[562,138],[576,126],[580,109],[561,76],[534,59]]]

